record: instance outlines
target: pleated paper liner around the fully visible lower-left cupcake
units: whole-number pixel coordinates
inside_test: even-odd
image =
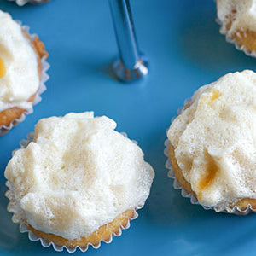
[[[121,134],[125,137],[127,137],[126,133],[125,132],[121,132]],[[33,140],[33,132],[30,132],[28,133],[27,135],[27,139],[24,139],[24,140],[21,140],[20,141],[20,148],[26,148],[26,146],[31,143]],[[137,144],[136,141],[132,141],[134,143]],[[12,154],[15,154],[15,151],[17,149],[15,149]],[[57,246],[54,242],[47,242],[47,241],[44,241],[43,238],[40,238],[38,236],[36,236],[32,230],[29,230],[26,223],[22,222],[22,219],[20,219],[20,214],[18,212],[18,209],[16,207],[16,203],[15,203],[15,195],[14,195],[14,189],[12,188],[12,184],[7,181],[6,182],[6,186],[8,187],[8,191],[5,193],[5,196],[9,199],[9,204],[8,204],[8,207],[7,207],[7,210],[8,212],[11,212],[13,213],[13,217],[12,217],[12,221],[13,223],[15,224],[20,224],[20,232],[21,233],[27,233],[28,235],[28,239],[30,241],[40,241],[41,245],[43,247],[50,247],[52,246],[54,248],[54,250],[56,252],[62,252],[64,249],[67,250],[68,253],[74,253],[77,249],[79,249],[81,252],[86,252],[89,247],[93,247],[95,249],[98,249],[99,247],[101,247],[101,244],[102,244],[102,241],[105,242],[105,243],[111,243],[113,241],[113,236],[121,236],[122,235],[122,230],[127,230],[130,228],[131,226],[131,220],[133,219],[136,219],[138,217],[138,213],[137,213],[137,210],[143,208],[143,205],[142,206],[138,206],[134,209],[134,212],[133,212],[133,216],[131,218],[128,218],[128,221],[127,221],[127,224],[125,225],[120,225],[119,226],[119,230],[113,232],[109,237],[108,239],[104,239],[102,241],[99,241],[99,243],[97,245],[93,245],[91,243],[87,244],[86,247],[66,247],[66,246],[62,246],[62,247],[59,247]]]

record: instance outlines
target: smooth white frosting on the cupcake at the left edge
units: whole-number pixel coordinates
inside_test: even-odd
[[[32,108],[26,102],[39,88],[38,60],[21,26],[0,10],[0,112]]]

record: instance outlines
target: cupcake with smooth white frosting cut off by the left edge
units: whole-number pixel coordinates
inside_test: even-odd
[[[48,57],[44,44],[0,10],[0,135],[32,113]],[[45,79],[44,79],[45,80]]]

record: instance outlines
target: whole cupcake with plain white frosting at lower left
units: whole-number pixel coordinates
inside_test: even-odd
[[[39,120],[32,142],[5,170],[13,221],[69,251],[99,247],[127,227],[148,198],[154,170],[115,127],[92,112]]]

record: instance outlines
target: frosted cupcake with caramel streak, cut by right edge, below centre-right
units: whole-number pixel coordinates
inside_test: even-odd
[[[256,210],[256,73],[202,86],[167,132],[177,182],[206,208]]]

